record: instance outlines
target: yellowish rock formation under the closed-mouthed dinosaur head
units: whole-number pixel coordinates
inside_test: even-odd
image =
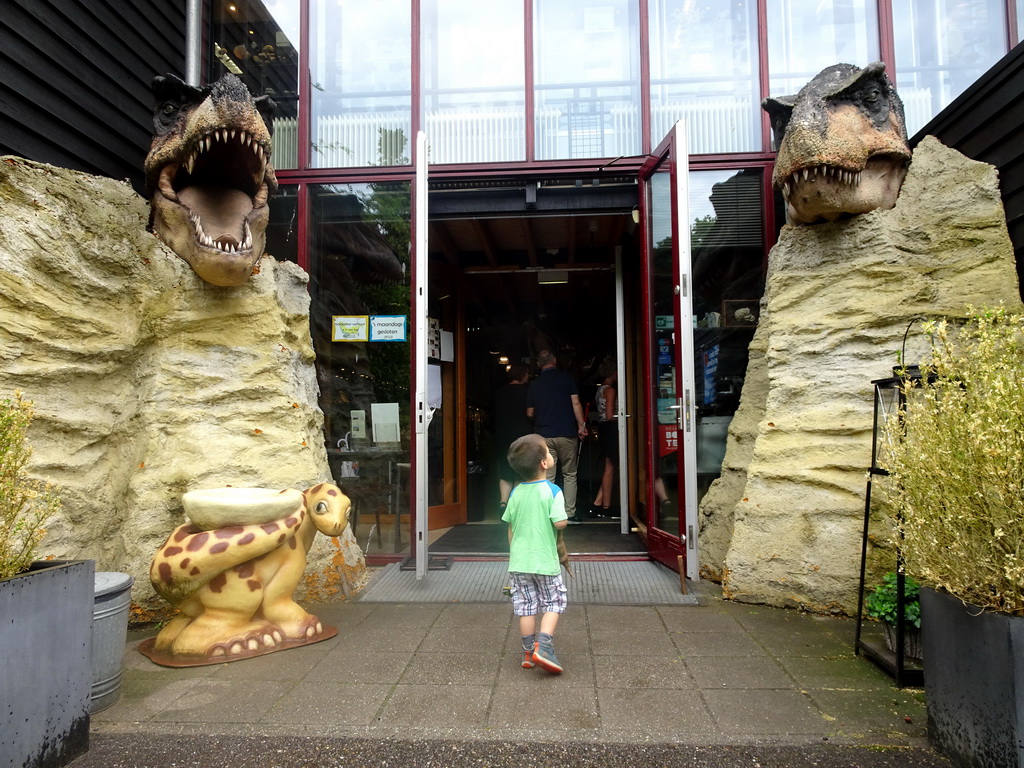
[[[996,171],[928,137],[892,210],[785,226],[722,476],[700,505],[700,562],[735,599],[856,609],[871,380],[914,317],[1019,306]],[[911,333],[906,360],[923,351]]]

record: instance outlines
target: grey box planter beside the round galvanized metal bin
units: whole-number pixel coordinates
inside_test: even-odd
[[[89,749],[92,560],[0,581],[0,766],[55,768]]]

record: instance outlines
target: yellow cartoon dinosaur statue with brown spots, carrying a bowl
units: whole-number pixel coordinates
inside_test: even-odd
[[[316,531],[339,536],[348,524],[348,497],[331,483],[305,492],[216,490],[227,495],[229,503],[223,507],[234,515],[229,519],[248,516],[247,524],[204,529],[207,523],[193,519],[171,532],[153,558],[150,581],[180,615],[139,650],[157,664],[194,667],[270,653],[337,634],[307,613],[292,594]],[[255,496],[257,492],[263,495]],[[187,503],[185,508],[187,512]],[[259,511],[253,515],[250,508]]]

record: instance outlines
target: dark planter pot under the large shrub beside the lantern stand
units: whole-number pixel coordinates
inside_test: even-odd
[[[928,737],[963,766],[1024,768],[1024,618],[921,591]]]

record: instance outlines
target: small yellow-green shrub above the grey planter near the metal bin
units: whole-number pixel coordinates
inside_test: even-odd
[[[0,579],[26,570],[60,506],[52,485],[25,471],[32,449],[26,439],[32,403],[20,392],[0,400]]]

